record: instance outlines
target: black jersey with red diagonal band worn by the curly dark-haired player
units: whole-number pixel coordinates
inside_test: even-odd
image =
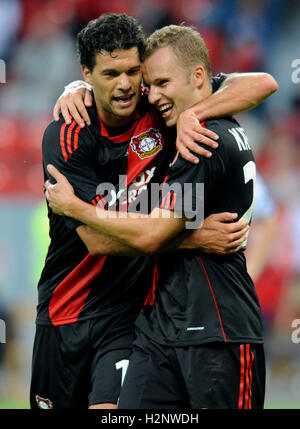
[[[213,90],[224,78],[213,79]],[[166,130],[147,94],[141,95],[128,127],[107,128],[95,104],[89,115],[89,127],[80,128],[75,121],[67,125],[62,118],[49,124],[43,137],[45,180],[46,166],[53,164],[82,200],[130,210],[147,185],[165,175],[175,130]],[[115,188],[102,195],[105,183]],[[38,284],[37,323],[63,325],[115,311],[124,312],[124,323],[132,323],[152,286],[154,259],[92,256],[76,232],[80,222],[50,208],[48,216],[51,243]]]

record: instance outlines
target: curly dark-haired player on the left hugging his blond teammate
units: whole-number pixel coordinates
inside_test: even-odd
[[[81,128],[61,117],[47,127],[45,180],[51,177],[46,166],[53,164],[91,207],[126,211],[148,183],[159,181],[174,135],[166,133],[159,113],[141,94],[143,33],[136,20],[103,15],[79,33],[78,47],[83,75],[93,87],[91,125]],[[241,107],[231,97],[232,109],[249,108],[250,100],[249,94],[249,103]],[[98,188],[103,183],[115,192],[103,195]],[[225,213],[226,219],[234,217]],[[154,258],[50,208],[49,220],[51,244],[38,285],[31,406],[116,408],[134,322],[152,286]],[[246,230],[240,231],[241,224],[223,224],[221,232],[229,236],[223,251],[228,242],[228,252],[240,246]],[[218,228],[208,219],[180,246],[214,251]]]

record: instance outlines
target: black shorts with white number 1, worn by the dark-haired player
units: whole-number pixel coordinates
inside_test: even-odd
[[[133,325],[116,325],[112,327],[111,317],[55,327],[37,325],[31,408],[116,404],[134,339]]]

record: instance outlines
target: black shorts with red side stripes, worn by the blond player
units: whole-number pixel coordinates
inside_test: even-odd
[[[138,333],[119,409],[261,409],[262,344],[166,347]]]

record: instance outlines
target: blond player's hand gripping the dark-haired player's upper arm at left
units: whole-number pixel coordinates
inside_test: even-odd
[[[75,198],[74,189],[68,179],[54,165],[49,164],[47,170],[56,183],[52,184],[50,180],[44,183],[45,196],[53,212],[63,216]]]

